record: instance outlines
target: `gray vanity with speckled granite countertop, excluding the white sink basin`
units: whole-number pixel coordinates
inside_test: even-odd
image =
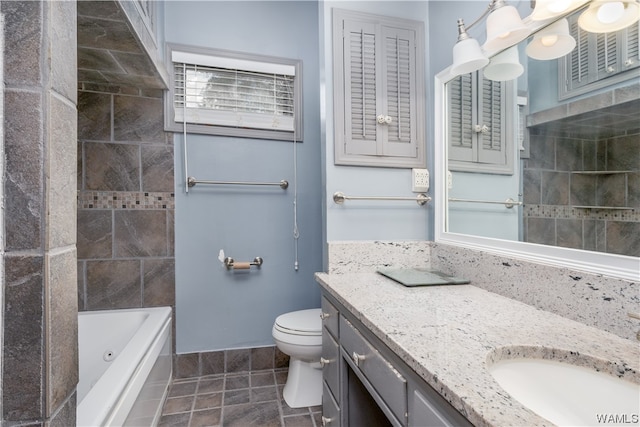
[[[640,384],[637,343],[472,285],[408,288],[376,273],[316,280],[325,426],[549,425],[491,376],[504,359],[553,359]]]

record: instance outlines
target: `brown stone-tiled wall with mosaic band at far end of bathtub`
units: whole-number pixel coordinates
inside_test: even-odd
[[[78,308],[173,307],[173,138],[162,91],[78,89]]]

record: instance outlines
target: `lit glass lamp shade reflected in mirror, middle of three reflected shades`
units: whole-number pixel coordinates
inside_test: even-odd
[[[576,47],[576,40],[569,34],[569,21],[562,18],[538,31],[527,45],[527,55],[538,60],[557,59]]]

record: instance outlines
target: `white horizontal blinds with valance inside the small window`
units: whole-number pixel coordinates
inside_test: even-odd
[[[176,122],[294,130],[295,67],[182,52],[172,60]]]

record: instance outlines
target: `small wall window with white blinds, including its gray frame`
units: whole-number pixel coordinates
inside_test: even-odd
[[[177,45],[168,57],[167,130],[302,140],[300,61]]]

